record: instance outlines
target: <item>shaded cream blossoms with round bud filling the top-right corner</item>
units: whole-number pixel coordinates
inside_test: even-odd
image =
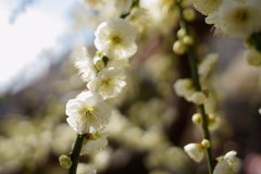
[[[246,61],[253,66],[261,65],[261,50],[256,44],[261,32],[260,0],[194,0],[194,5],[207,15],[206,23],[213,24],[216,34],[246,39],[249,49],[244,54]]]

